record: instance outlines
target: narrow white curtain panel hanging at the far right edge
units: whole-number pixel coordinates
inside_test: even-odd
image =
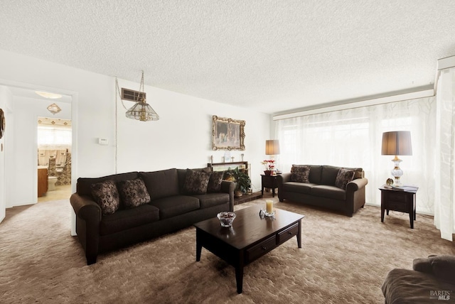
[[[452,241],[455,233],[455,68],[442,70],[437,87],[437,170],[434,224],[441,238]]]

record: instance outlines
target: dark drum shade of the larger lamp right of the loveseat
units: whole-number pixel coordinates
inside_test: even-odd
[[[412,155],[411,132],[391,131],[382,133],[382,155]]]

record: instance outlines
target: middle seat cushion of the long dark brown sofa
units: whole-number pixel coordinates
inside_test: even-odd
[[[183,213],[198,210],[200,207],[198,197],[188,195],[175,195],[152,200],[150,205],[159,209],[160,219],[183,215]]]

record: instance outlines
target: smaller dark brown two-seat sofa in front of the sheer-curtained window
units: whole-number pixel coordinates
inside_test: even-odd
[[[362,168],[341,168],[332,165],[293,165],[292,167],[291,173],[277,176],[280,202],[289,200],[325,207],[343,212],[349,217],[365,205],[365,185],[368,184],[368,180]],[[301,167],[309,167],[309,172],[306,172],[304,181],[296,181],[292,171]],[[353,180],[345,181],[338,187],[337,177],[341,169],[352,170]]]

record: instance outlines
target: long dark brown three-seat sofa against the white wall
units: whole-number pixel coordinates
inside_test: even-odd
[[[130,172],[101,178],[78,178],[77,192],[70,197],[76,214],[77,237],[85,250],[87,265],[96,263],[101,252],[158,237],[191,226],[218,212],[233,211],[235,184],[221,181],[217,192],[191,194],[185,190],[189,169]],[[210,171],[210,169],[194,169]],[[208,173],[211,174],[211,173]],[[125,181],[141,179],[149,202],[137,207],[122,207],[103,215],[100,202],[92,195],[92,185],[110,181],[119,187]],[[115,187],[115,186],[114,186]]]

